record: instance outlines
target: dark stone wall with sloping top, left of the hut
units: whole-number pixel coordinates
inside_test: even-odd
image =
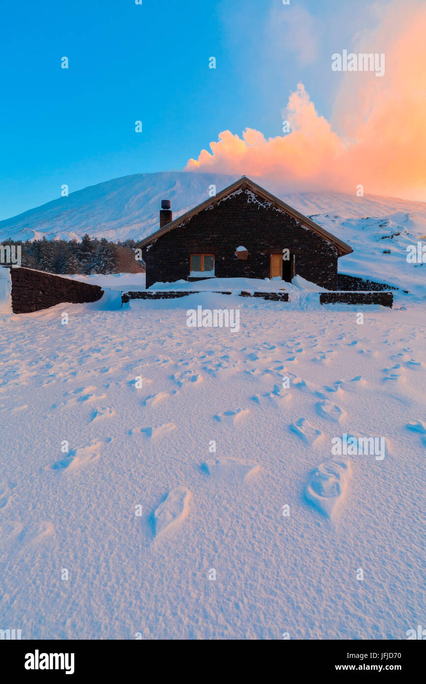
[[[103,289],[98,285],[31,268],[11,268],[10,275],[13,313],[31,313],[63,302],[97,302],[103,295]]]

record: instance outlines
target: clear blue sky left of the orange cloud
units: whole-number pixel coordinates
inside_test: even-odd
[[[224,129],[280,135],[299,80],[329,118],[330,55],[371,21],[368,4],[2,0],[0,220],[59,197],[63,184],[183,169]],[[306,12],[308,40],[277,21],[295,10]]]

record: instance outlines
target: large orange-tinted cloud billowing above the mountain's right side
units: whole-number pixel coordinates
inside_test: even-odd
[[[379,11],[378,29],[348,49],[384,53],[385,74],[336,73],[332,125],[299,83],[283,111],[291,133],[266,139],[254,129],[242,137],[222,131],[187,170],[261,176],[292,189],[355,193],[362,184],[366,193],[426,200],[426,6],[398,1]]]

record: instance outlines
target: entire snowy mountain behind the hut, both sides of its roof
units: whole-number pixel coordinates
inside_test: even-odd
[[[142,239],[158,228],[162,199],[174,218],[236,180],[236,176],[193,172],[137,174],[87,187],[0,222],[0,240],[72,239],[89,233],[108,239]],[[283,184],[256,179],[354,248],[339,261],[350,275],[426,292],[426,265],[406,261],[406,248],[426,239],[426,203],[379,196],[288,192]],[[386,251],[385,251],[386,250]],[[390,250],[390,254],[387,252]]]

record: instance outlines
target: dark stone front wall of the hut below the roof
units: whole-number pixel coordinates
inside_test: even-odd
[[[247,260],[235,256],[239,246],[248,250]],[[270,255],[284,248],[294,255],[295,275],[336,289],[336,247],[263,198],[241,190],[142,248],[146,287],[187,280],[191,254],[202,253],[215,255],[217,278],[269,278]]]

